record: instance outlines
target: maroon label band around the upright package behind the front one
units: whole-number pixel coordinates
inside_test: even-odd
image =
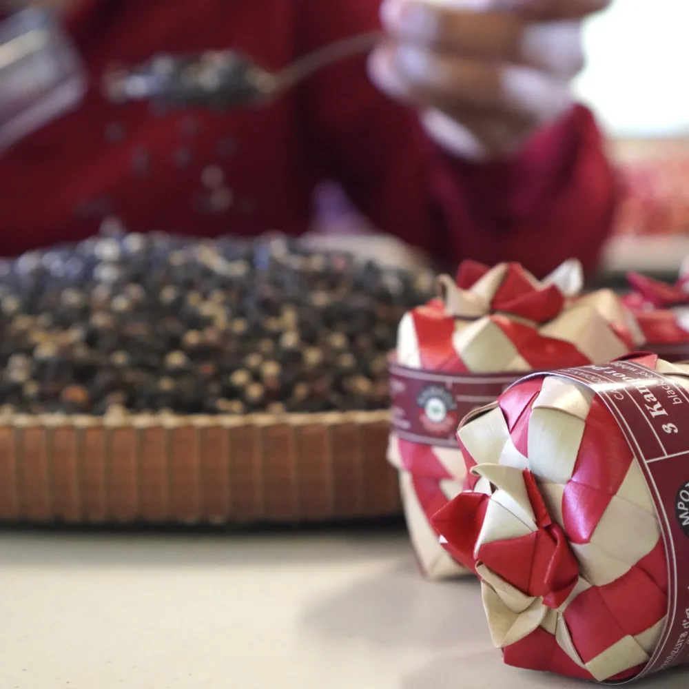
[[[442,373],[390,363],[392,426],[398,438],[457,448],[457,426],[524,373]]]

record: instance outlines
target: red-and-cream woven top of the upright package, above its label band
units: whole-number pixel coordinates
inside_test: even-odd
[[[440,300],[407,313],[398,362],[433,371],[495,373],[606,362],[641,343],[634,319],[610,290],[579,296],[581,266],[543,281],[522,266],[465,261],[439,278]]]

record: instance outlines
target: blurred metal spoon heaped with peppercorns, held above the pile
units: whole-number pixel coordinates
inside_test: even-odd
[[[258,107],[327,65],[368,52],[379,39],[380,34],[374,32],[329,43],[278,72],[264,70],[235,50],[160,54],[134,70],[105,74],[103,85],[114,103],[152,99],[180,107]]]

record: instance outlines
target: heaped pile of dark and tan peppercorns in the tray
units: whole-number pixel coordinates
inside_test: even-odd
[[[21,413],[387,407],[431,274],[281,236],[99,236],[0,263],[0,404]]]

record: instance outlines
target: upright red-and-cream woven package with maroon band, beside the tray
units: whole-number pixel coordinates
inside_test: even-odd
[[[567,261],[543,281],[520,265],[466,261],[441,297],[407,313],[391,363],[388,458],[400,471],[411,542],[430,579],[466,573],[438,543],[430,517],[462,491],[455,431],[529,371],[606,362],[636,349],[635,322],[609,290],[579,297],[582,271]]]

